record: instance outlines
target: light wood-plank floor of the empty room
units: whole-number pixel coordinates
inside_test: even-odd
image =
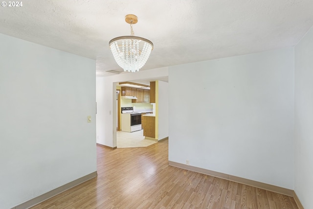
[[[98,177],[32,209],[297,209],[292,197],[168,165],[168,140],[97,146]]]

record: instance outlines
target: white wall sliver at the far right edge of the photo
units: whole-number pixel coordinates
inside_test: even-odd
[[[295,47],[294,191],[313,208],[313,28]]]

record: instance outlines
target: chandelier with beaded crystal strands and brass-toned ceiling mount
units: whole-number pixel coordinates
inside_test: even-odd
[[[138,22],[137,16],[126,15],[125,21],[131,25],[131,35],[116,37],[109,45],[116,63],[124,71],[135,72],[147,62],[153,43],[148,39],[134,36],[133,24]]]

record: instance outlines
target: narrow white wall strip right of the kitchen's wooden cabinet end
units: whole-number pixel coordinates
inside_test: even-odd
[[[168,137],[168,83],[158,81],[158,140]]]

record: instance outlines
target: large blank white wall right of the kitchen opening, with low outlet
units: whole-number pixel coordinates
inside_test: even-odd
[[[293,189],[293,48],[169,67],[169,98],[169,161]]]

